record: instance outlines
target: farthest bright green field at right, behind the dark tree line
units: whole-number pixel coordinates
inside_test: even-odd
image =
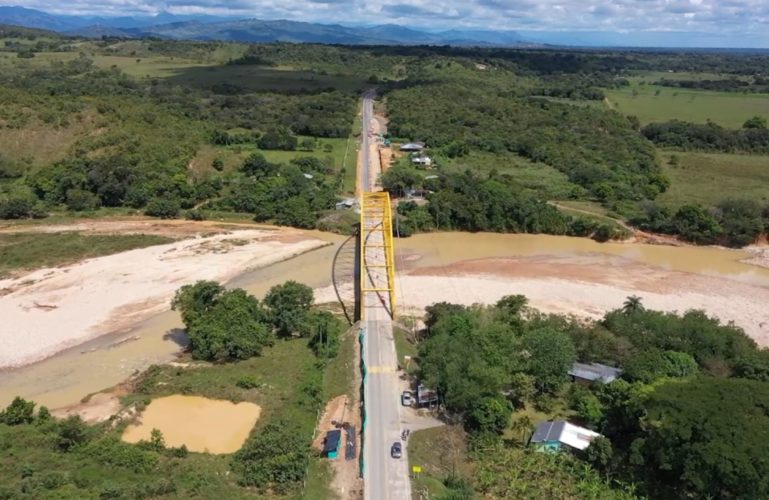
[[[769,117],[769,96],[706,90],[676,89],[655,85],[640,85],[666,73],[651,74],[631,80],[629,87],[606,90],[607,105],[624,115],[634,115],[642,124],[667,120],[705,123],[711,120],[728,128],[740,128],[754,115]],[[672,75],[672,74],[671,74]],[[683,74],[677,74],[682,77]],[[659,94],[657,94],[659,92]]]

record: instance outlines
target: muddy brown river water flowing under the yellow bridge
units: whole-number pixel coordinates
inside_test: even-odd
[[[331,263],[343,237],[309,235],[334,243],[272,266],[247,272],[228,283],[262,297],[273,285],[296,280],[313,288],[331,283]],[[590,255],[646,264],[671,271],[720,276],[769,288],[769,269],[741,263],[744,251],[709,247],[597,243],[563,236],[435,233],[396,242],[396,267],[446,266],[463,260],[493,257]],[[153,363],[172,360],[184,345],[178,313],[168,311],[128,332],[110,334],[69,349],[45,361],[0,373],[0,407],[20,395],[51,408],[78,402],[112,387]]]

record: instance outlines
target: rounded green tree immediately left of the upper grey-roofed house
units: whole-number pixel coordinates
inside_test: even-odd
[[[524,334],[523,347],[528,354],[526,373],[534,376],[539,391],[554,393],[577,356],[571,337],[553,328],[539,328]]]

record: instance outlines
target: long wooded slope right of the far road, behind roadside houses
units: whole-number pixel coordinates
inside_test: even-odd
[[[604,201],[654,199],[667,188],[654,148],[618,113],[500,87],[449,80],[393,90],[389,130],[449,157],[483,151],[545,163]]]

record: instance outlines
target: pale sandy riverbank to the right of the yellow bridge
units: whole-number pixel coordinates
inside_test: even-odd
[[[596,319],[638,295],[650,309],[702,309],[734,322],[769,346],[769,288],[727,276],[673,271],[621,257],[590,254],[482,258],[402,272],[396,293],[401,314],[421,314],[436,302],[492,304],[522,294],[544,312]],[[333,291],[317,292],[318,301]]]

